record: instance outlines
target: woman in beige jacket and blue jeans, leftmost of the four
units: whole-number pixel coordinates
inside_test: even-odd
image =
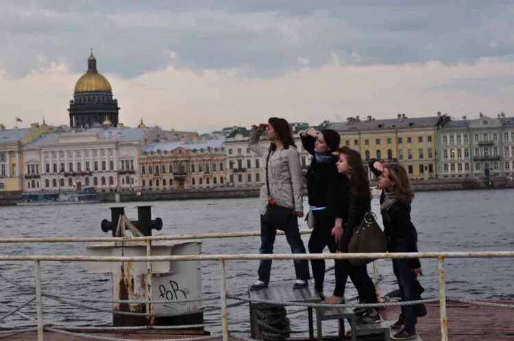
[[[270,147],[258,144],[261,131],[271,141]],[[268,124],[253,126],[248,147],[266,160],[267,184],[260,188],[260,253],[273,253],[273,243],[277,229],[286,233],[292,253],[306,253],[300,237],[297,218],[304,216],[302,199],[304,180],[299,154],[284,118],[271,117]],[[273,211],[274,210],[274,211]],[[277,212],[280,211],[280,214]],[[295,289],[306,288],[309,278],[307,260],[294,260]],[[250,290],[267,288],[271,273],[271,260],[261,260],[259,279]]]

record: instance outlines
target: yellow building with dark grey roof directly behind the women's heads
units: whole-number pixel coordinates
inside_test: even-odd
[[[437,176],[436,131],[447,116],[366,120],[350,117],[346,122],[332,123],[331,129],[341,135],[341,144],[360,152],[365,160],[400,162],[411,179],[433,179]],[[370,179],[372,179],[370,174]]]

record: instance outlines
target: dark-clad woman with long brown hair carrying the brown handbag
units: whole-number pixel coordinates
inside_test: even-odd
[[[344,221],[343,236],[337,250],[338,252],[348,252],[348,243],[354,228],[360,225],[364,215],[371,210],[371,192],[360,153],[349,147],[342,147],[338,149],[338,155],[337,171],[346,175],[349,181],[343,189],[345,198],[341,207],[341,216]],[[341,262],[357,289],[360,303],[377,303],[375,286],[369,278],[367,266],[354,266],[347,260]],[[357,314],[358,323],[380,322],[380,315],[374,308],[360,309]]]

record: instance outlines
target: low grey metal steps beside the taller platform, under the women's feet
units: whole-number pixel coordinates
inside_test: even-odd
[[[323,320],[339,320],[339,337],[345,337],[345,318],[350,320],[350,337],[356,341],[357,336],[365,336],[371,333],[384,333],[384,341],[391,341],[390,323],[380,320],[380,323],[359,324],[356,323],[356,315],[353,309],[347,307],[316,307],[317,340],[323,340]]]

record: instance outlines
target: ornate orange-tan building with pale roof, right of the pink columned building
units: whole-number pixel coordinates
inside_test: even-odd
[[[150,142],[140,157],[142,190],[216,188],[226,184],[225,138],[172,136]]]

